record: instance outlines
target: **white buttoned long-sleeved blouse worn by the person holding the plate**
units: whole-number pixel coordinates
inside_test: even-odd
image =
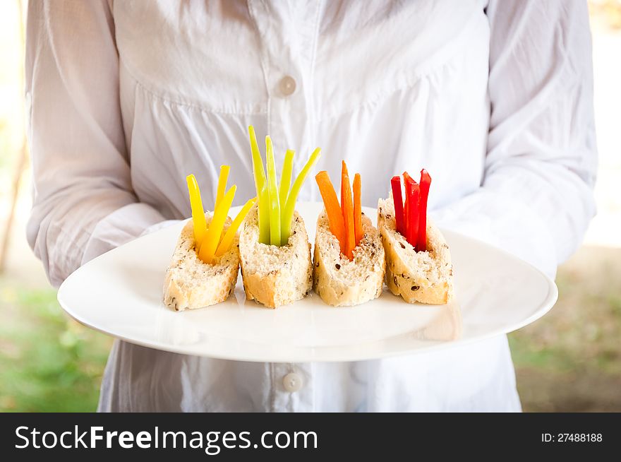
[[[294,170],[344,158],[375,206],[431,173],[430,213],[550,275],[594,213],[586,2],[30,1],[28,239],[54,285],[213,203],[231,165],[254,196],[246,127]],[[306,182],[301,200],[320,200]],[[284,308],[287,309],[287,308]],[[292,381],[284,381],[294,374]],[[507,338],[344,363],[263,364],[116,341],[100,410],[519,410]]]

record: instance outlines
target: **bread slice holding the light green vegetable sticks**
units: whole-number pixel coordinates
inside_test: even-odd
[[[310,244],[300,214],[294,213],[287,245],[259,242],[258,206],[246,216],[239,236],[241,277],[248,300],[277,308],[306,297],[313,283]]]

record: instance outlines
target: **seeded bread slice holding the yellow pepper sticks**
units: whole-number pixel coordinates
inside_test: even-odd
[[[205,213],[207,225],[212,213]],[[231,225],[227,218],[224,230]],[[239,273],[239,237],[231,249],[208,265],[198,258],[194,247],[192,220],[181,230],[172,261],[164,278],[164,304],[176,312],[208,307],[224,302],[235,289]]]

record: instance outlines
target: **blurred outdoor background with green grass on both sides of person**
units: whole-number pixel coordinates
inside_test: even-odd
[[[589,2],[598,216],[560,266],[559,301],[510,334],[526,411],[621,411],[621,1]],[[25,242],[23,11],[0,2],[0,411],[92,411],[111,338],[68,319]]]

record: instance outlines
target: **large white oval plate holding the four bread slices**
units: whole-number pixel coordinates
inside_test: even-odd
[[[321,208],[299,203],[311,243]],[[365,213],[375,221],[374,209]],[[97,331],[159,350],[310,362],[457,348],[526,326],[548,312],[558,295],[554,282],[529,263],[444,231],[454,263],[452,304],[407,304],[385,288],[377,300],[357,307],[330,307],[313,292],[289,306],[266,309],[246,301],[240,276],[226,302],[172,312],[162,303],[162,285],[182,226],[140,237],[86,263],[61,285],[61,306]]]

